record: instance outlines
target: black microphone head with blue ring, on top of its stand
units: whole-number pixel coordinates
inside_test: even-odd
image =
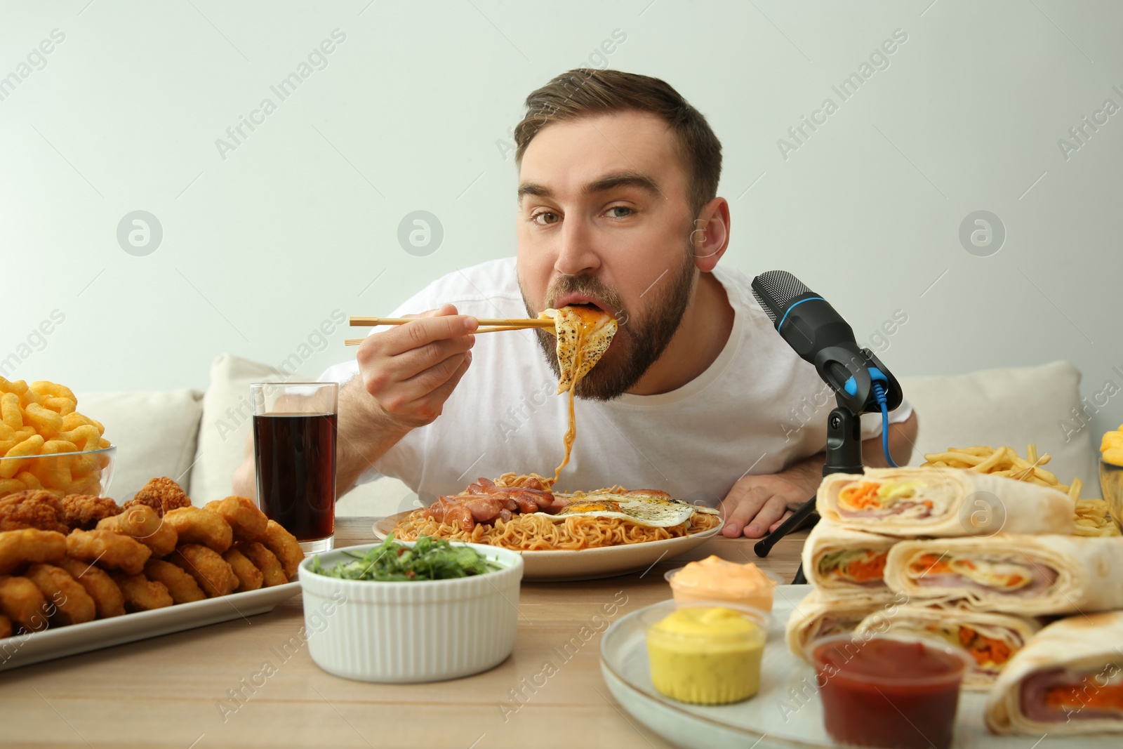
[[[879,410],[873,382],[880,382],[892,411],[901,405],[901,385],[868,348],[858,346],[853,329],[822,296],[787,271],[769,271],[752,280],[776,331],[803,359],[815,366],[853,413]]]

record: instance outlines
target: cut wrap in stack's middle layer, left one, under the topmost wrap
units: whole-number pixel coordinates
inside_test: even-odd
[[[892,599],[883,574],[889,547],[898,540],[821,520],[803,544],[804,575],[832,596],[855,593]]]

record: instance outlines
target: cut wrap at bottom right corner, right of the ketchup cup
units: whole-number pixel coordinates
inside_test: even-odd
[[[1123,611],[1038,632],[998,676],[984,715],[995,733],[1123,731]]]

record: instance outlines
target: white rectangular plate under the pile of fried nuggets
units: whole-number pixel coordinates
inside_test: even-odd
[[[84,624],[47,629],[31,634],[15,634],[0,640],[0,672],[88,650],[109,648],[122,642],[262,614],[272,611],[279,603],[298,593],[300,583],[285,583],[206,601],[138,611],[124,616],[98,619]]]

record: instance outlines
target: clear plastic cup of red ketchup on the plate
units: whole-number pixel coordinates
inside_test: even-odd
[[[894,634],[838,634],[809,646],[836,741],[893,749],[947,749],[964,672],[959,648]]]

